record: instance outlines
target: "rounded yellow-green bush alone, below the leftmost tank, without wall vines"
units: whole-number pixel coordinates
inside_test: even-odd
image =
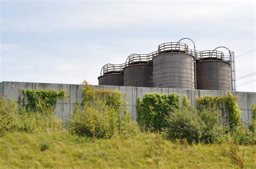
[[[120,113],[107,107],[106,103],[97,99],[93,104],[76,108],[69,122],[72,133],[95,138],[110,138],[117,133]]]

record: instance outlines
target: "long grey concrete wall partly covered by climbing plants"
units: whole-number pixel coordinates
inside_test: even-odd
[[[1,87],[3,86],[3,87]],[[3,94],[14,98],[18,101],[19,96],[23,98],[23,89],[53,89],[62,90],[65,89],[66,93],[69,95],[63,100],[58,98],[56,104],[56,114],[59,118],[66,120],[72,115],[74,110],[74,104],[76,102],[82,103],[83,101],[83,88],[84,85],[68,85],[68,84],[51,84],[51,83],[26,83],[26,82],[1,82],[0,92],[3,88]],[[224,96],[227,91],[216,91],[216,90],[189,90],[189,89],[170,89],[170,88],[145,88],[145,87],[124,87],[124,86],[93,86],[93,88],[103,88],[119,90],[123,94],[127,94],[127,102],[129,103],[129,110],[132,118],[135,120],[137,118],[136,107],[137,98],[143,97],[146,93],[160,93],[160,94],[171,94],[176,93],[184,97],[187,95],[188,99],[191,100],[193,105],[196,105],[195,98],[197,96]],[[252,118],[251,105],[256,104],[256,93],[252,92],[232,92],[233,95],[238,96],[238,105],[242,111],[242,119],[248,124],[249,120]],[[1,94],[1,93],[0,93]],[[25,103],[28,103],[25,98]]]

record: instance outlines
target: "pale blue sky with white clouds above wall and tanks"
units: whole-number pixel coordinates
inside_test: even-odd
[[[254,1],[0,1],[0,82],[98,85],[103,65],[191,38],[234,51],[237,90],[256,92]]]

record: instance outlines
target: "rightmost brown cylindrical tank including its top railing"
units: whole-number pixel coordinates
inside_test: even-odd
[[[197,89],[230,90],[230,62],[220,51],[201,51],[197,61]]]

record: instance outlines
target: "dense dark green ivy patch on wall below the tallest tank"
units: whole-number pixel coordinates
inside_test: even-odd
[[[161,131],[174,109],[180,109],[179,95],[145,94],[143,100],[138,97],[137,121],[144,130]]]

